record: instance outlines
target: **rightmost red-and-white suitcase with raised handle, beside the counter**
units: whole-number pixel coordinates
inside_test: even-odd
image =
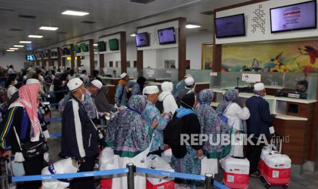
[[[278,143],[280,143],[280,147],[277,151]],[[274,147],[276,150],[273,151]],[[271,142],[269,148],[262,151],[259,172],[265,188],[269,188],[271,185],[281,185],[283,188],[288,188],[291,177],[291,159],[281,152],[282,140],[276,141],[276,145]]]

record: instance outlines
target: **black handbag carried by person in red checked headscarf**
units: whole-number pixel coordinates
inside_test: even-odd
[[[40,155],[43,155],[47,151],[49,151],[49,146],[47,145],[47,141],[44,140],[42,136],[36,142],[25,142],[21,145],[20,139],[18,138],[18,134],[16,133],[16,128],[13,127],[14,133],[16,134],[16,140],[18,141],[18,146],[21,149],[21,153],[25,160],[32,160]],[[41,131],[42,134],[42,131]]]

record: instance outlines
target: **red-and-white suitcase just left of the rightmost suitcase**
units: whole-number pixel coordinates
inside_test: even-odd
[[[223,183],[229,188],[248,188],[250,162],[244,157],[231,156],[222,161]]]

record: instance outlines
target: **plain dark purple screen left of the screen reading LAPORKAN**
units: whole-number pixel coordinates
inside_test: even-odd
[[[245,36],[244,14],[215,18],[214,23],[216,38]]]

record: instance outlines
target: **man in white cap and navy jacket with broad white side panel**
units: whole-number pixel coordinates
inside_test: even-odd
[[[80,162],[79,172],[94,171],[94,155],[98,153],[96,126],[81,102],[85,95],[83,81],[74,78],[67,84],[71,98],[62,114],[61,155]],[[71,188],[94,188],[94,177],[73,179]]]

